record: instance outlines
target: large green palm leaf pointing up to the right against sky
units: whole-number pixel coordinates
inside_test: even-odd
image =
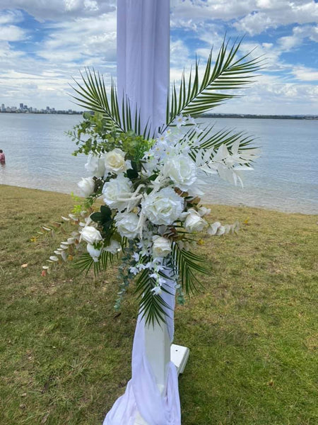
[[[188,82],[182,74],[179,91],[175,84],[172,86],[171,101],[168,100],[167,104],[167,125],[181,113],[196,117],[210,111],[225,100],[237,97],[225,91],[232,91],[253,81],[256,77],[254,72],[260,69],[260,61],[247,60],[249,54],[237,59],[240,44],[241,41],[228,47],[228,42],[224,41],[213,67],[211,50],[201,84],[198,60],[194,72],[190,72]]]

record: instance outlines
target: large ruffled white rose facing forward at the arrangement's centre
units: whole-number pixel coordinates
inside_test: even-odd
[[[172,225],[182,213],[184,200],[172,188],[151,193],[141,203],[144,214],[155,225]]]

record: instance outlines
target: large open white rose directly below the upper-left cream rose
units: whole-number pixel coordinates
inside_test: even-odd
[[[128,199],[131,196],[131,181],[119,174],[116,179],[107,181],[102,188],[104,202],[112,209],[119,211],[124,210],[128,204],[128,200],[118,200],[118,198]]]

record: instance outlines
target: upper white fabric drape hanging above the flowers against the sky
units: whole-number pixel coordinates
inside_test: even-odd
[[[170,1],[117,0],[117,93],[152,132],[165,123],[169,62]]]

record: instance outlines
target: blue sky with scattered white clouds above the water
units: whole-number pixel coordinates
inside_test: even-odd
[[[170,75],[204,65],[225,36],[265,68],[215,113],[318,115],[318,3],[313,0],[171,0]],[[0,104],[80,109],[70,84],[91,67],[116,77],[115,0],[1,0]]]

